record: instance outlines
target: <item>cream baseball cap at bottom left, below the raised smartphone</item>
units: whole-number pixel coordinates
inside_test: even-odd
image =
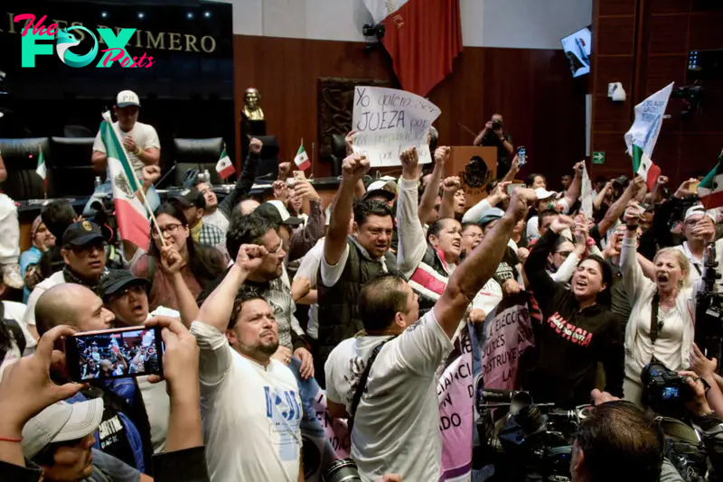
[[[103,419],[103,399],[53,403],[23,427],[23,454],[33,459],[48,444],[82,439],[98,429]]]

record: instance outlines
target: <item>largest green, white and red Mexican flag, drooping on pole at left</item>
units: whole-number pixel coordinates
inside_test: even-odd
[[[126,152],[118,140],[109,112],[103,113],[100,138],[103,144],[106,144],[108,175],[113,186],[113,201],[116,206],[120,237],[147,250],[151,226],[146,209],[136,198],[136,191],[142,189],[142,186],[138,183],[133,166],[128,162]]]

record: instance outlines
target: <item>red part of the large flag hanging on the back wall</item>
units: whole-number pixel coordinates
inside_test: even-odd
[[[382,22],[401,88],[426,96],[462,51],[459,0],[409,0]]]

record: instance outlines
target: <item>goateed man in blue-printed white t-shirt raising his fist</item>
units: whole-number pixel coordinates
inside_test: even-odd
[[[242,245],[221,284],[203,302],[191,332],[201,348],[200,381],[206,461],[213,482],[297,482],[302,404],[296,376],[272,358],[274,311],[239,288],[268,256]]]

